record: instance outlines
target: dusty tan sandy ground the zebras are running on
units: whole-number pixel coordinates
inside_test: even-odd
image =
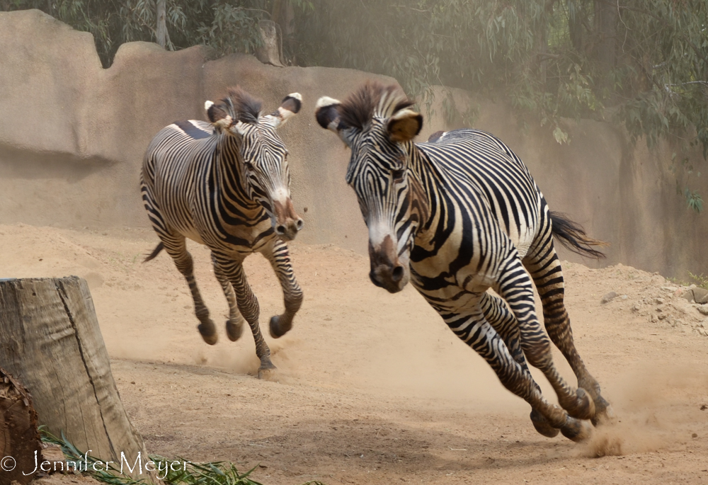
[[[278,382],[258,380],[250,333],[225,336],[207,251],[191,246],[216,346],[198,335],[169,256],[140,263],[156,241],[142,229],[0,226],[3,277],[89,282],[151,453],[231,460],[264,484],[708,482],[708,320],[659,275],[564,265],[578,350],[620,420],[578,445],[535,433],[527,404],[411,287],[389,295],[369,282],[367,258],[334,246],[292,244],[305,301],[290,333],[266,337]],[[280,288],[261,256],[246,273],[265,324],[282,309]],[[610,291],[619,296],[600,304]]]

